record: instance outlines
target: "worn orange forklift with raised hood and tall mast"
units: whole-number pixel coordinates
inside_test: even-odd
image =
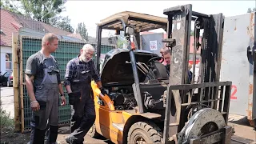
[[[125,11],[98,23],[96,69],[107,94],[91,82],[96,120],[87,134],[114,143],[230,143],[232,82],[219,82],[223,15],[194,12],[190,4],[163,14],[167,18]],[[201,50],[198,82],[194,76],[187,82],[192,21],[194,63]],[[140,43],[141,32],[159,28],[172,55],[170,75],[163,58]],[[110,50],[101,64],[102,30],[123,31],[127,46]]]

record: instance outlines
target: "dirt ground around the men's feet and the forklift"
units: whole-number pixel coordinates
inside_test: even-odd
[[[238,115],[230,114],[230,126],[234,126],[234,136],[232,144],[248,143],[256,144],[256,131],[249,125],[246,118]],[[66,144],[65,138],[69,134],[69,126],[60,127],[58,130],[58,144]],[[29,142],[30,133],[21,134],[14,133],[13,129],[1,130],[1,144],[26,144]],[[86,135],[84,143],[112,143],[106,138],[90,138]]]

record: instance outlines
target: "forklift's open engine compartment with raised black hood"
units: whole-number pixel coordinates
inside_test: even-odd
[[[144,50],[136,50],[136,64],[140,82],[140,94],[134,87],[133,69],[129,50],[115,49],[106,54],[102,66],[102,86],[114,102],[115,110],[133,110],[138,106],[134,94],[142,98],[143,109],[148,112],[164,114],[164,91],[167,90],[168,75],[165,66],[159,62],[161,57]],[[101,105],[104,105],[99,100]]]

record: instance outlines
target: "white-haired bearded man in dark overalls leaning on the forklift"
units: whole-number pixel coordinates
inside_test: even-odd
[[[64,86],[69,95],[71,106],[71,134],[66,138],[67,143],[82,143],[90,127],[95,121],[94,99],[90,96],[91,78],[97,83],[102,94],[106,91],[102,88],[102,82],[95,70],[92,57],[94,47],[86,44],[80,50],[76,58],[66,65]]]

